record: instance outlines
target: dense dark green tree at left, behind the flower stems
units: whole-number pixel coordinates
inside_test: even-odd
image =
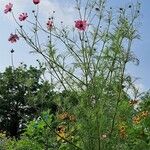
[[[0,73],[0,130],[7,136],[19,137],[25,123],[47,107],[56,111],[52,87],[41,78],[43,71],[22,65]]]

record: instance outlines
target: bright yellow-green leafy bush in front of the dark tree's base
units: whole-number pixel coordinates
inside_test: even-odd
[[[49,115],[49,111],[43,112],[41,117],[44,117],[47,123],[51,124],[53,115]],[[39,117],[34,121],[28,122],[25,132],[21,135],[21,139],[7,142],[5,149],[43,150],[52,147],[51,145],[53,145],[53,135],[51,135],[45,121]]]

